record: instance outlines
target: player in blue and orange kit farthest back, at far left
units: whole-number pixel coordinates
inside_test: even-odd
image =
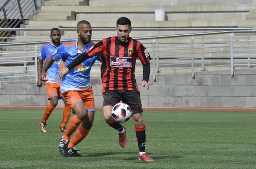
[[[50,38],[52,39],[51,42],[43,44],[41,47],[39,59],[38,59],[38,67],[37,67],[37,86],[42,87],[42,84],[45,84],[45,89],[47,92],[48,100],[50,103],[45,108],[45,113],[43,115],[42,120],[40,121],[40,129],[42,132],[47,132],[46,128],[46,120],[49,118],[50,114],[52,113],[53,109],[58,104],[58,99],[62,99],[64,101],[64,110],[63,110],[63,118],[62,122],[59,127],[60,132],[66,131],[66,124],[68,123],[70,117],[71,107],[67,104],[65,97],[63,97],[62,93],[60,92],[60,84],[59,84],[59,70],[60,65],[62,63],[61,59],[59,61],[55,61],[54,64],[47,70],[48,79],[47,82],[41,81],[41,72],[43,67],[43,62],[46,61],[50,55],[61,45],[60,43],[60,30],[58,28],[53,28],[51,30]]]

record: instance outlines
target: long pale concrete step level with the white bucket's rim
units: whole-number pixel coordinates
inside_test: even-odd
[[[125,3],[127,4],[127,3]],[[105,5],[105,3],[103,3]],[[75,11],[84,13],[115,13],[115,12],[140,12],[149,13],[154,12],[155,9],[164,9],[167,13],[176,12],[244,12],[249,9],[256,9],[255,5],[249,4],[202,4],[202,5],[164,5],[164,6],[149,6],[149,5],[135,5],[135,6],[59,6],[58,11]],[[56,11],[55,6],[42,6],[41,10]]]

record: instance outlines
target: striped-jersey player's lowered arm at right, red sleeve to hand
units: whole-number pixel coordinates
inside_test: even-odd
[[[150,76],[150,54],[148,53],[148,50],[145,48],[145,46],[143,46],[142,44],[138,45],[137,54],[143,65],[143,78],[141,81],[141,85],[146,89],[149,89],[148,80]]]

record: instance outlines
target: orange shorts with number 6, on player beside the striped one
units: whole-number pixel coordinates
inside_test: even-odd
[[[88,89],[82,90],[70,90],[63,93],[68,104],[75,106],[76,103],[83,102],[85,105],[86,111],[95,111],[94,98],[92,93],[92,86]]]

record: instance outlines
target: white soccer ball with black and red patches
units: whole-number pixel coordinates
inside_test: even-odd
[[[131,110],[131,107],[128,106],[128,104],[117,103],[112,108],[111,114],[115,121],[123,123],[129,120],[129,118],[132,115],[132,110]]]

